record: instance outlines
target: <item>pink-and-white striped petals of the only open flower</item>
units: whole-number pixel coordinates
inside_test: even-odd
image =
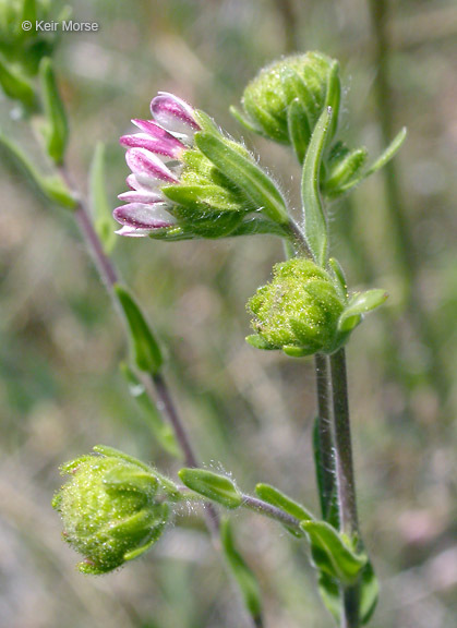
[[[117,207],[115,219],[122,225],[120,235],[143,237],[156,229],[176,225],[173,203],[161,192],[163,185],[180,182],[182,155],[193,145],[200,130],[194,109],[178,96],[159,92],[151,102],[154,120],[132,120],[140,133],[123,135],[125,160],[132,173],[129,192],[119,195],[125,205]]]

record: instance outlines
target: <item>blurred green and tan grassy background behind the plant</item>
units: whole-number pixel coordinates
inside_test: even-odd
[[[278,57],[339,59],[344,137],[376,156],[397,131],[394,166],[329,208],[333,253],[349,285],[389,292],[348,349],[360,519],[381,580],[373,627],[457,621],[457,7],[450,0],[79,0],[56,57],[71,122],[69,168],[82,192],[107,143],[112,206],[128,169],[118,137],[157,90],[208,111],[260,155],[298,206],[286,148],[230,117],[245,83]],[[34,155],[2,97],[0,122]],[[58,466],[103,443],[173,474],[119,363],[123,328],[69,214],[0,169],[0,624],[11,628],[243,628],[237,594],[201,518],[183,515],[145,558],[83,577],[50,502]],[[115,228],[115,225],[113,225]],[[113,251],[168,355],[166,376],[203,462],[245,492],[269,482],[317,511],[313,362],[255,351],[245,302],[282,257],[274,238]],[[330,627],[304,544],[245,512],[238,544],[261,582],[267,627]]]

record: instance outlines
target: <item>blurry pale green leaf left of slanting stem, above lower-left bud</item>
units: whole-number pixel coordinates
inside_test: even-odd
[[[177,443],[173,428],[164,421],[160,412],[147,395],[144,385],[128,364],[122,363],[120,369],[127,379],[129,391],[139,404],[140,411],[158,445],[175,458],[182,458],[182,451]]]

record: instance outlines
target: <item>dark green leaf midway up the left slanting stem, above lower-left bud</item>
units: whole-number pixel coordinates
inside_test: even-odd
[[[123,286],[117,283],[115,292],[125,315],[132,346],[133,361],[140,371],[155,375],[164,363],[160,348],[140,306]]]

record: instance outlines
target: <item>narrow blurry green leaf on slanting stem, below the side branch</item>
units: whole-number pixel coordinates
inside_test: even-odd
[[[228,519],[220,522],[220,540],[231,573],[238,582],[244,603],[255,626],[262,626],[262,599],[257,579],[234,546],[233,532]]]

